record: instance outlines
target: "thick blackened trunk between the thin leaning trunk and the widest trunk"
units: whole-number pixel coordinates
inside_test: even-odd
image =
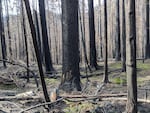
[[[43,42],[43,51],[44,51],[44,60],[46,65],[46,73],[53,73],[54,68],[52,65],[52,58],[48,44],[48,34],[46,27],[46,15],[45,15],[45,3],[44,0],[39,0],[39,12],[40,12],[40,20],[42,27],[42,42]]]

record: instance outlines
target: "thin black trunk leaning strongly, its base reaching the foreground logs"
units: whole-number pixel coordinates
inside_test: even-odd
[[[36,30],[35,30],[35,26],[33,24],[29,0],[24,0],[24,2],[25,2],[25,7],[26,7],[26,11],[27,11],[29,24],[30,24],[30,29],[31,29],[32,39],[33,39],[33,45],[34,45],[35,54],[36,54],[36,58],[37,58],[37,63],[38,63],[38,68],[39,68],[40,79],[41,79],[41,83],[42,83],[44,97],[45,97],[46,102],[50,102],[49,95],[48,95],[47,88],[46,88],[46,83],[44,80],[42,61],[41,61],[41,57],[40,57],[40,51],[38,49],[38,43],[36,40]]]

